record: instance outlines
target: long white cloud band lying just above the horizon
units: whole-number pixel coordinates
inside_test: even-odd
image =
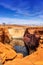
[[[43,21],[39,20],[26,20],[17,18],[0,18],[0,23],[6,24],[29,24],[29,25],[43,25]]]

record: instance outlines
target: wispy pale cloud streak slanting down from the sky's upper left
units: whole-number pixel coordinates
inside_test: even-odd
[[[5,3],[0,3],[0,5],[3,6],[4,8],[8,8],[8,9],[10,9],[12,11],[16,11],[17,15],[18,14],[22,14],[24,16],[29,16],[30,15],[29,12],[26,10],[27,7],[19,8],[20,5],[18,7],[15,7],[15,6],[13,7],[12,5],[5,4]]]

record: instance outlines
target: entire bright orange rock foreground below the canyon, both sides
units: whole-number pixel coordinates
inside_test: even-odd
[[[0,43],[0,62],[3,65],[43,65],[43,44],[23,58],[23,54],[16,53],[10,45]]]

